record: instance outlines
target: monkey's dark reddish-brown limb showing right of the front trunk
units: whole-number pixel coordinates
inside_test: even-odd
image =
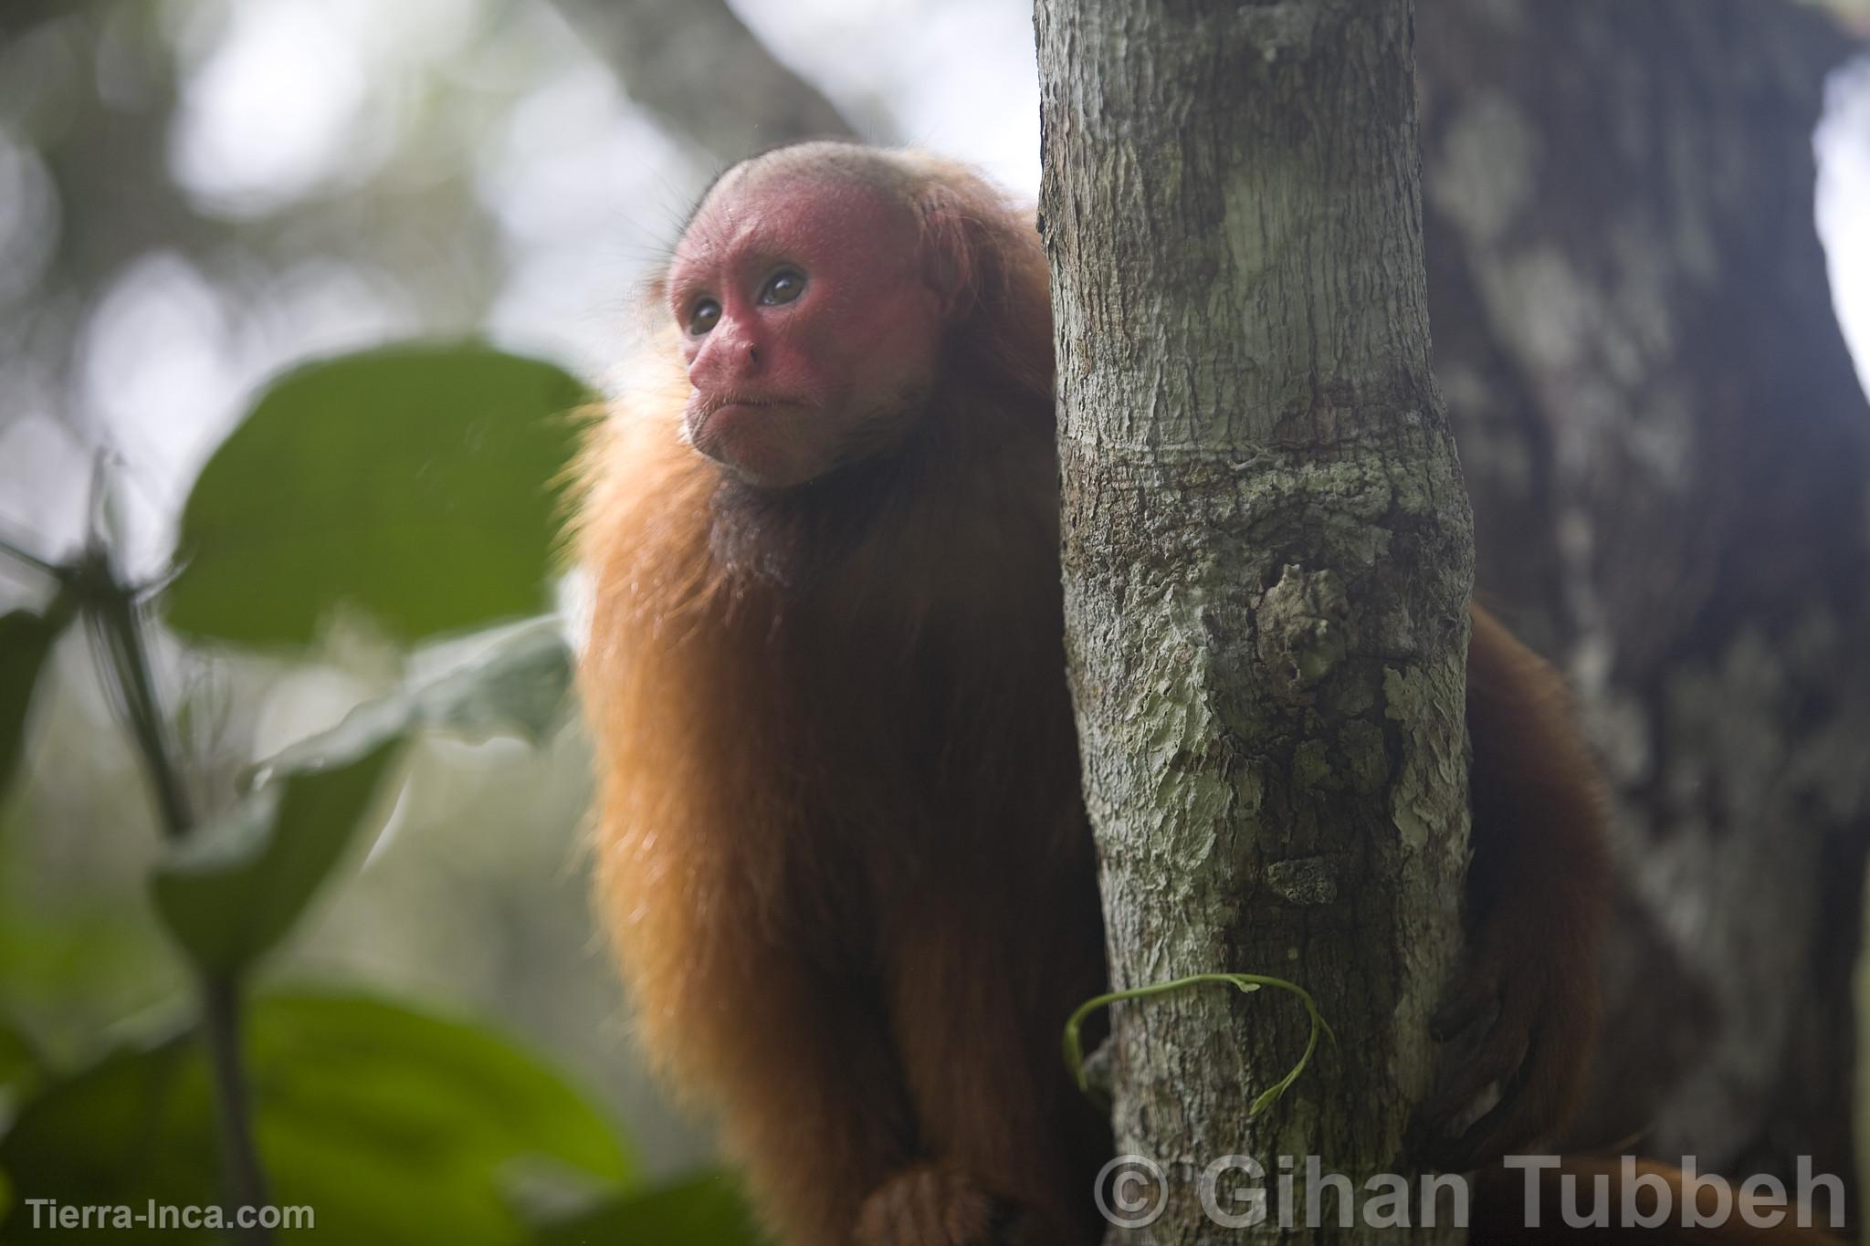
[[[1563,682],[1492,615],[1470,615],[1468,955],[1434,1018],[1457,1072],[1421,1117],[1431,1158],[1451,1169],[1545,1138],[1569,1115],[1597,1033],[1610,885],[1597,770]],[[1494,1082],[1500,1102],[1460,1128]]]

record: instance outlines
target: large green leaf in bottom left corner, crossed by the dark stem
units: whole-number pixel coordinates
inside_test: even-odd
[[[514,1166],[619,1184],[630,1164],[602,1117],[501,1037],[359,996],[266,998],[247,1014],[254,1132],[279,1207],[310,1207],[307,1240],[503,1246],[525,1229]],[[17,1190],[79,1205],[213,1201],[208,1067],[193,1035],[120,1050],[49,1087],[0,1141]],[[86,1242],[0,1224],[7,1242]],[[208,1242],[206,1233],[150,1233]],[[116,1231],[95,1240],[137,1240]]]

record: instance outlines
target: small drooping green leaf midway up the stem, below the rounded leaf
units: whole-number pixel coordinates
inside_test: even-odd
[[[234,971],[279,943],[376,813],[400,736],[352,743],[346,755],[275,762],[258,788],[155,867],[157,913],[196,966]]]

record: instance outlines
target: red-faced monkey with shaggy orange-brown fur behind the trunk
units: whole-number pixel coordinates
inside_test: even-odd
[[[578,527],[598,893],[643,1039],[789,1244],[1094,1242],[1109,1128],[1058,1037],[1103,925],[1030,217],[933,157],[785,148],[709,191],[654,303]],[[1563,689],[1481,611],[1468,723],[1438,1024],[1479,1055],[1423,1113],[1455,1164],[1563,1119],[1606,889]]]

